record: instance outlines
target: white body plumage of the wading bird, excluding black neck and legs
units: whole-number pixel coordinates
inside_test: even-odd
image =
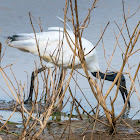
[[[67,30],[67,32],[72,39],[69,39],[70,44],[72,48],[75,49],[75,45],[73,44],[75,42],[75,35],[70,30]],[[63,28],[50,27],[47,32],[37,33],[36,37],[40,55],[43,60],[47,62],[46,67],[53,67],[55,64],[61,67],[63,64],[63,67],[71,68],[74,53],[69,47]],[[8,39],[9,46],[38,55],[34,33],[17,34],[13,37],[8,37]],[[82,38],[82,47],[84,54],[87,54],[94,46],[91,42]],[[97,72],[99,70],[95,49],[85,56],[85,60],[89,71]],[[75,58],[74,67],[81,68],[80,61],[77,56]]]

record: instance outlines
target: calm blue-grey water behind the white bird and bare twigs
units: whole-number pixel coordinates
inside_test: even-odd
[[[33,32],[28,12],[31,12],[31,14],[38,19],[41,17],[41,25],[44,31],[47,30],[50,26],[63,26],[62,23],[56,18],[56,16],[59,16],[61,18],[64,17],[64,6],[65,1],[61,0],[0,0],[0,42],[3,44],[3,51],[5,50],[4,57],[1,62],[1,66],[5,67],[6,65],[14,63],[12,66],[12,70],[15,74],[15,77],[20,83],[23,85],[25,83],[25,86],[27,86],[27,73],[30,77],[31,72],[34,69],[34,61],[39,60],[37,56],[34,56],[30,53],[24,53],[19,50],[16,50],[14,48],[10,48],[5,43],[6,37],[16,34],[16,33],[26,33],[26,32]],[[84,1],[79,0],[79,19],[80,21],[83,21],[86,15],[88,14],[88,8],[91,7],[92,0]],[[130,1],[124,1],[125,3],[125,11],[127,15],[127,11],[129,9],[129,14],[132,15],[140,6],[139,0],[130,0]],[[70,13],[68,13],[70,15]],[[140,20],[140,11],[136,13],[132,18],[128,20],[128,27],[130,30],[130,34],[132,34],[136,24]],[[105,71],[107,68],[107,63],[104,58],[104,50],[103,45],[105,47],[105,55],[107,60],[109,61],[115,43],[116,38],[115,34],[118,35],[119,30],[117,26],[115,25],[114,21],[120,26],[122,26],[124,20],[123,20],[123,9],[122,9],[122,1],[110,1],[110,0],[104,0],[99,1],[97,8],[95,8],[91,13],[91,21],[89,24],[89,27],[85,29],[83,37],[91,41],[93,44],[96,44],[100,38],[101,31],[105,28],[106,24],[110,21],[110,24],[105,32],[104,38],[103,38],[103,44],[100,42],[97,46],[97,53],[98,53],[98,59],[100,64],[101,71]],[[36,32],[39,32],[40,29],[37,24],[34,24],[36,28]],[[128,43],[128,34],[126,31],[126,28],[123,30],[123,35],[126,38],[126,42]],[[139,48],[140,39],[138,40],[135,49],[137,50]],[[119,45],[124,50],[125,45],[122,37],[119,39]],[[115,70],[119,70],[122,63],[122,54],[120,53],[120,49],[117,46],[114,57],[111,62],[111,67],[113,67]],[[132,56],[129,59],[129,66],[131,68],[131,76],[134,76],[134,73],[136,71],[137,65],[140,60],[139,52],[137,52],[134,56]],[[45,62],[44,62],[45,64]],[[133,67],[134,66],[134,67]],[[111,69],[111,68],[110,68]],[[12,76],[10,69],[5,68],[5,72],[8,74],[9,78],[14,82],[16,85],[16,82],[14,80],[14,77]],[[125,71],[129,71],[128,67],[125,67]],[[83,73],[82,70],[80,72]],[[140,77],[140,73],[139,73]],[[83,77],[78,75],[78,83],[80,87],[82,88],[84,94],[86,95],[89,102],[91,102],[91,105],[94,107],[96,105],[95,97],[91,93],[91,90],[88,85],[88,81],[85,81]],[[129,77],[126,76],[127,79],[127,88],[130,88],[130,80]],[[28,82],[30,81],[30,78],[28,78]],[[103,93],[106,93],[108,90],[108,87],[111,85],[110,82],[105,82]],[[137,87],[137,91],[140,91],[140,86],[138,85],[138,81],[136,80],[135,86]],[[73,92],[76,94],[76,97],[78,100],[82,100],[83,107],[90,111],[91,108],[89,105],[87,105],[86,101],[84,100],[82,94],[80,94],[78,88],[76,87],[75,90],[75,83],[71,81],[71,88],[73,89]],[[111,92],[111,97],[113,98],[113,95],[115,93],[116,87],[113,88]],[[40,89],[41,90],[41,89]],[[76,92],[75,92],[76,91]],[[27,92],[27,91],[26,91]],[[7,94],[8,95],[7,95]],[[5,81],[3,80],[2,76],[0,75],[0,99],[9,101],[11,100],[10,97],[12,97],[9,89],[7,88],[7,85]],[[13,97],[12,97],[13,98]],[[110,99],[107,98],[107,104],[109,104]],[[70,104],[69,104],[70,105]],[[134,92],[131,96],[131,106],[129,112],[129,117],[131,118],[139,109],[140,109],[140,102],[138,100],[138,97],[136,93]],[[115,102],[115,108],[116,108],[116,114],[119,114],[120,110],[123,107],[123,100],[121,97],[121,94],[119,93],[118,98]],[[67,112],[69,110],[70,106],[68,106],[65,111]],[[139,119],[140,113],[137,114],[134,119]]]

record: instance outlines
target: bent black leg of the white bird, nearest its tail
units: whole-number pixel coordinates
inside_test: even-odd
[[[34,72],[34,71],[32,72],[29,97],[28,97],[28,99],[24,102],[25,104],[28,104],[28,103],[31,103],[31,102],[32,102],[32,96],[33,96],[33,89],[34,89],[34,80],[35,80],[35,77],[37,76],[38,73],[44,71],[45,69],[46,69],[46,67],[42,67],[42,68],[39,68],[38,70],[36,70],[35,72]]]

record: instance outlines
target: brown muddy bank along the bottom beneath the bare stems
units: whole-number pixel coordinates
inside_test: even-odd
[[[103,118],[102,118],[103,119]],[[129,124],[132,129],[120,119],[118,121],[116,132],[113,135],[109,134],[108,128],[103,126],[100,123],[96,123],[94,132],[92,133],[92,128],[94,123],[89,122],[89,119],[84,120],[73,120],[69,121],[60,121],[48,122],[46,129],[39,137],[39,139],[70,139],[70,140],[88,140],[91,139],[91,136],[96,140],[118,140],[118,139],[140,139],[140,135],[136,131],[140,132],[140,122],[138,120],[124,120]],[[17,127],[17,124],[7,123],[0,132],[0,137],[4,140],[7,139],[18,139],[22,133],[22,126]],[[0,123],[0,127],[3,124]],[[29,136],[30,137],[30,136]],[[28,137],[28,138],[29,138]],[[30,137],[31,138],[31,137]]]

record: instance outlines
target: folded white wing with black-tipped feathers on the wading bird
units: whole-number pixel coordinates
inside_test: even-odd
[[[8,37],[8,45],[21,51],[38,55],[36,45],[36,43],[38,43],[41,57],[45,61],[57,63],[58,66],[62,65],[62,63],[67,65],[72,59],[73,52],[70,50],[69,45],[64,38],[63,28],[51,27],[50,29],[51,31],[48,32],[37,33],[37,42],[34,33],[13,35],[12,37]]]

